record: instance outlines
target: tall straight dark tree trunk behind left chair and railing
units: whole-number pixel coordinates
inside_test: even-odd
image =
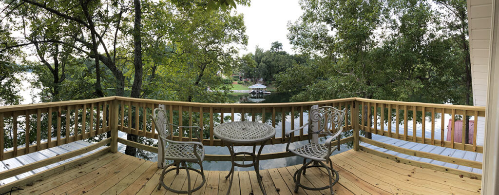
[[[135,67],[135,75],[132,85],[132,92],[130,97],[138,98],[140,97],[140,89],[142,87],[142,47],[141,47],[141,13],[140,10],[140,0],[134,0],[133,4],[135,6],[135,22],[133,24],[133,44],[134,44],[134,59],[133,64]],[[137,112],[138,110],[136,110]],[[135,124],[135,123],[133,123]],[[137,128],[137,127],[135,127]],[[137,142],[138,136],[127,135],[127,140]],[[127,146],[125,149],[125,154],[130,156],[135,156],[137,154],[137,149]]]

